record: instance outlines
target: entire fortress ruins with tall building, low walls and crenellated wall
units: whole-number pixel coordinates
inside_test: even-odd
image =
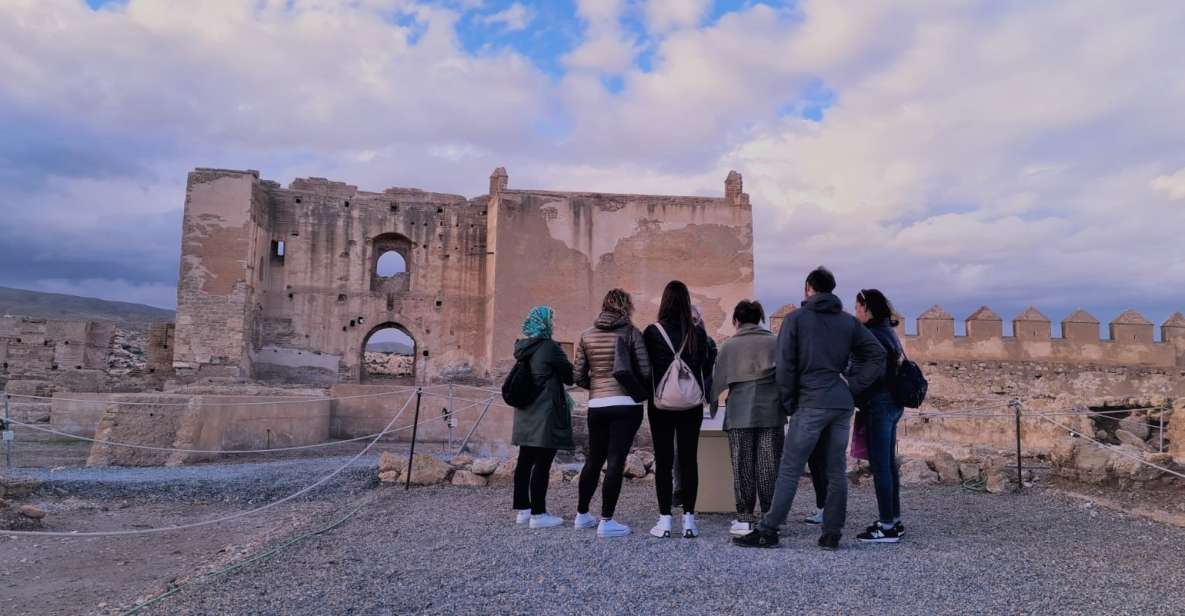
[[[15,402],[18,418],[193,449],[356,437],[380,430],[412,396],[367,378],[367,341],[385,328],[411,339],[397,383],[480,402],[532,306],[556,308],[556,339],[571,351],[611,287],[634,294],[645,322],[666,282],[684,280],[718,340],[731,333],[735,302],[754,294],[752,208],[736,172],[723,198],[709,198],[517,190],[499,168],[488,194],[467,199],[320,178],[282,187],[254,171],[199,168],[182,224],[175,323],[153,326],[135,361],[116,357],[127,345],[110,323],[0,319],[0,381],[9,393],[52,397]],[[390,256],[402,265],[395,272],[380,268]],[[792,309],[774,313],[771,328]],[[1165,426],[1136,430],[1147,454],[1185,464],[1185,422],[1167,421],[1185,404],[1185,316],[1162,323],[1160,340],[1130,310],[1108,323],[1107,338],[1084,310],[1062,321],[1061,335],[1036,308],[1012,326],[1004,335],[1004,319],[985,307],[959,335],[954,316],[934,307],[916,334],[902,331],[931,380],[928,406],[999,409],[1018,398],[1033,411],[1133,409]],[[142,416],[123,413],[129,402],[155,417],[150,426],[126,421]],[[1117,442],[1117,425],[1083,421],[1084,432]],[[419,437],[444,441],[473,422],[433,422]],[[1006,423],[910,418],[903,435],[1008,449]],[[1065,436],[1036,418],[1025,431],[1026,449],[1042,455]],[[474,438],[504,447],[508,434],[510,413],[497,412]],[[193,458],[101,445],[91,454],[95,463]]]

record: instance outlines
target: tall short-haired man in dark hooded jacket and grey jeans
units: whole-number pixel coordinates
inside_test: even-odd
[[[732,538],[742,547],[777,545],[777,527],[790,513],[807,458],[828,428],[827,501],[819,546],[839,547],[847,518],[847,439],[854,396],[880,378],[885,351],[859,320],[844,313],[834,290],[835,276],[826,268],[815,269],[806,280],[802,309],[782,321],[775,374],[790,426],[773,506],[756,530]]]

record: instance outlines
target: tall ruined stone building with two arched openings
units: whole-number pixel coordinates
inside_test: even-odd
[[[396,327],[416,342],[417,383],[489,383],[532,306],[556,306],[557,339],[571,342],[609,288],[635,293],[646,321],[677,277],[723,334],[726,310],[752,295],[739,174],[725,194],[512,191],[498,169],[491,194],[466,199],[321,178],[284,188],[257,172],[197,169],[172,366],[182,380],[358,383],[366,340]],[[379,276],[392,250],[406,271]]]

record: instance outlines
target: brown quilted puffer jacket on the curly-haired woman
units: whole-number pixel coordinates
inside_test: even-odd
[[[601,313],[592,328],[581,334],[576,346],[576,385],[589,390],[589,399],[628,396],[613,376],[613,359],[617,352],[617,339],[624,336],[634,349],[638,370],[643,376],[651,373],[649,355],[642,344],[642,333],[629,322],[628,316]],[[639,400],[641,404],[643,400]]]

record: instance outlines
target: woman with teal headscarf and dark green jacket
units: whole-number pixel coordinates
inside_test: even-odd
[[[514,467],[515,521],[531,528],[551,528],[564,522],[547,513],[547,482],[556,451],[576,448],[571,398],[564,390],[564,385],[572,384],[572,364],[551,339],[553,317],[550,306],[532,308],[523,322],[525,338],[514,342],[514,360],[531,366],[539,392],[533,403],[514,409],[511,437],[519,448]]]

